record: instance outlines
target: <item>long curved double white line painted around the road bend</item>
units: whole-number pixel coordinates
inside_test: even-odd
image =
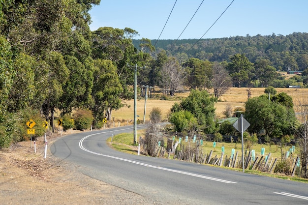
[[[122,130],[125,130],[125,129],[122,129]],[[121,130],[117,130],[117,131],[121,131]],[[157,167],[157,166],[153,166],[153,165],[150,165],[150,164],[145,164],[145,163],[141,163],[141,162],[137,162],[137,161],[132,161],[132,160],[128,160],[128,159],[124,159],[124,158],[120,158],[120,157],[115,157],[115,156],[110,156],[110,155],[105,155],[105,154],[100,154],[100,153],[97,153],[97,152],[93,152],[91,150],[88,150],[86,149],[82,144],[83,144],[83,141],[86,140],[87,138],[93,136],[93,135],[99,135],[99,134],[103,134],[103,133],[107,133],[108,131],[106,132],[101,132],[101,133],[96,133],[96,134],[92,134],[92,135],[88,135],[86,137],[84,137],[83,139],[81,139],[79,141],[79,147],[86,151],[86,152],[89,152],[89,153],[92,153],[92,154],[96,154],[96,155],[100,155],[100,156],[104,156],[104,157],[109,157],[109,158],[113,158],[113,159],[118,159],[118,160],[122,160],[122,161],[125,161],[125,162],[130,162],[130,163],[134,163],[134,164],[138,164],[138,165],[141,165],[141,166],[145,166],[145,167],[151,167],[151,168],[154,168],[154,169],[159,169],[159,170],[165,170],[165,171],[168,171],[168,172],[175,172],[175,173],[179,173],[179,174],[183,174],[183,175],[189,175],[189,176],[195,176],[195,177],[200,177],[200,178],[205,178],[205,179],[209,179],[209,180],[214,180],[214,181],[219,181],[219,182],[223,182],[223,183],[234,183],[236,184],[237,182],[234,182],[234,181],[227,181],[227,180],[224,180],[224,179],[219,179],[219,178],[214,178],[214,177],[209,177],[209,176],[203,176],[203,175],[197,175],[197,174],[193,174],[193,173],[188,173],[188,172],[183,172],[183,171],[178,171],[178,170],[173,170],[173,169],[168,169],[168,168],[163,168],[163,167]]]

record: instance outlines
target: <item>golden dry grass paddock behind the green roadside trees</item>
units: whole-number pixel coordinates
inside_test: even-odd
[[[251,88],[251,97],[257,97],[264,93],[265,88]],[[308,99],[308,88],[275,88],[277,93],[285,92],[293,98],[294,105],[298,105],[299,100],[304,102],[304,100]],[[210,93],[213,91],[210,90]],[[185,97],[188,96],[189,93],[176,93],[177,97]],[[178,98],[176,98],[178,99]],[[232,108],[236,109],[237,107],[244,107],[245,102],[247,101],[247,88],[230,88],[226,93],[224,93],[219,101],[215,104],[216,108],[216,117],[224,118],[225,116],[222,114],[225,111],[226,106],[230,105]],[[149,120],[149,115],[154,107],[159,107],[162,111],[163,118],[167,118],[168,113],[170,112],[170,108],[175,102],[180,102],[180,100],[158,100],[158,99],[148,99],[146,105],[146,120]],[[133,100],[125,101],[128,106],[124,106],[118,111],[112,112],[112,117],[115,120],[130,120],[133,119],[134,116],[134,102]],[[141,121],[143,121],[144,116],[144,107],[145,101],[144,99],[137,101],[137,117]]]

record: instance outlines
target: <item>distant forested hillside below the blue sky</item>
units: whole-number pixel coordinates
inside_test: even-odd
[[[152,40],[153,44],[157,40]],[[133,40],[138,48],[140,40]],[[268,59],[277,70],[305,70],[308,67],[308,33],[283,35],[232,36],[214,39],[158,40],[156,52],[183,58],[198,58],[212,62],[230,62],[235,54],[245,54],[250,62]],[[184,59],[184,60],[186,60]]]

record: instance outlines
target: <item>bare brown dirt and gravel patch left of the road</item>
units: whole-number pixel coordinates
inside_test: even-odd
[[[63,133],[70,134],[70,133]],[[57,136],[48,137],[48,146]],[[144,205],[160,204],[78,172],[76,165],[48,152],[44,138],[0,151],[0,205]]]

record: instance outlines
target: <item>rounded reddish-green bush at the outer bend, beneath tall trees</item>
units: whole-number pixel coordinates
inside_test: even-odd
[[[90,111],[77,110],[73,117],[76,129],[85,130],[91,127],[93,117]]]

